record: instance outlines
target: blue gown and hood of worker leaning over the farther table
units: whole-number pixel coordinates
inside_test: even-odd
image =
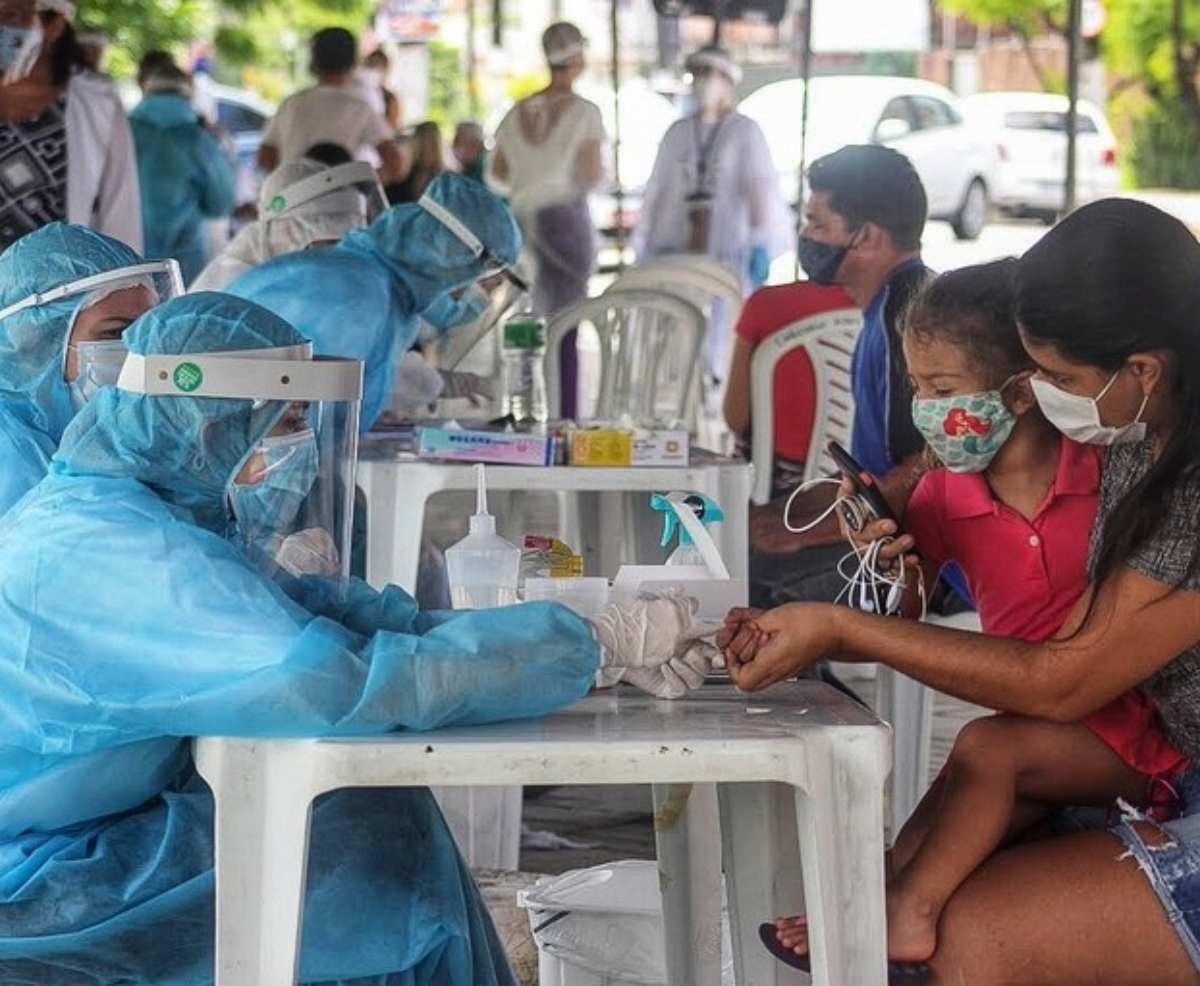
[[[449,209],[504,264],[521,234],[500,199],[457,174],[426,194]],[[312,339],[322,356],[364,362],[362,431],[391,405],[397,360],[420,329],[419,315],[484,272],[484,264],[419,205],[397,205],[336,247],[277,257],[227,290],[257,301]]]

